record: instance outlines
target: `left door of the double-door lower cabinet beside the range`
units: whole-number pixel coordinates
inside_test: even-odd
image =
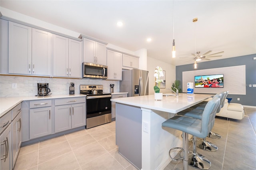
[[[71,105],[55,106],[55,132],[71,129]]]

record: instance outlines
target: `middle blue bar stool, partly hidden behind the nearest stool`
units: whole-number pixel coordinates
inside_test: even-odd
[[[222,103],[222,100],[224,100],[224,96],[225,96],[224,92],[221,92],[221,93],[214,95],[213,98],[218,97],[220,99],[220,103]],[[204,103],[203,103],[201,105],[198,105],[197,107],[186,109],[185,111],[181,111],[177,114],[182,115],[182,116],[192,117],[195,119],[202,119],[202,113],[203,113],[205,106],[206,105],[204,105]],[[218,106],[216,112],[218,113],[220,111],[220,109],[221,109],[221,104]],[[202,141],[197,145],[196,145],[196,142],[197,141],[194,140],[194,138],[193,138],[193,153],[196,153],[196,149],[195,149],[196,146],[200,149],[211,151],[211,152],[218,150],[218,147],[215,144],[206,141],[206,137],[203,138]]]

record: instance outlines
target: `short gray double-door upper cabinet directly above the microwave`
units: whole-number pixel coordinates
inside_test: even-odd
[[[84,42],[84,62],[107,65],[106,44],[82,38]]]

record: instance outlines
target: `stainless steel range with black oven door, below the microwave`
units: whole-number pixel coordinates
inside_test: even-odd
[[[103,93],[103,85],[80,85],[86,95],[86,128],[111,122],[111,93]]]

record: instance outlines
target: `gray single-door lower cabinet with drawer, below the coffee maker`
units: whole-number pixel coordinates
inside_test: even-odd
[[[30,101],[29,138],[52,134],[52,100]]]

